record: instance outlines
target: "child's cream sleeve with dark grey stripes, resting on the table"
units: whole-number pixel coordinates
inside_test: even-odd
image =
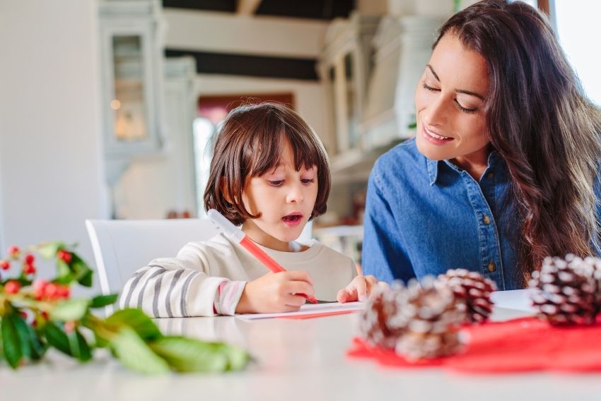
[[[208,272],[202,251],[188,244],[176,258],[155,259],[129,277],[119,306],[140,308],[153,318],[216,316],[218,287],[229,280],[211,277]]]

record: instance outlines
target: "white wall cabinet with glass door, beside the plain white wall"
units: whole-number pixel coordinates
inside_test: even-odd
[[[163,145],[163,47],[158,0],[100,1],[104,148],[121,164]]]

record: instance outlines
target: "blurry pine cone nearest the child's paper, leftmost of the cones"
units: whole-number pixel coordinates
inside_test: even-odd
[[[404,292],[402,282],[393,282],[390,287],[377,287],[359,314],[359,331],[368,344],[386,349],[395,349],[399,337],[405,331],[404,322],[395,318]]]

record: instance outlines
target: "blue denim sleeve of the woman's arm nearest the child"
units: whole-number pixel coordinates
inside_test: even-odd
[[[387,183],[387,185],[392,185]],[[414,270],[399,235],[394,206],[384,191],[379,164],[376,163],[368,180],[361,262],[364,275],[392,282],[415,277]]]

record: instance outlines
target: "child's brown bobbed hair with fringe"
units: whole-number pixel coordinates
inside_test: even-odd
[[[216,209],[235,225],[260,217],[244,207],[247,179],[275,169],[286,141],[297,171],[317,167],[317,199],[309,220],[324,214],[331,185],[325,149],[301,116],[271,102],[236,107],[223,121],[204,191],[205,210]]]

